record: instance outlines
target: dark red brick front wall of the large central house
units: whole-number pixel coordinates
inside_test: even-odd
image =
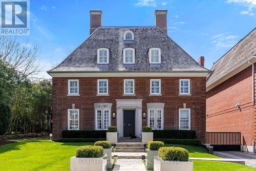
[[[135,79],[136,96],[123,96],[123,79]],[[161,79],[161,96],[149,96],[150,79]],[[182,77],[183,78],[183,77]],[[68,79],[79,79],[80,96],[67,96]],[[109,79],[109,96],[97,96],[97,79]],[[178,129],[179,108],[190,108],[190,128],[197,131],[198,138],[205,141],[205,108],[206,93],[205,77],[191,77],[191,96],[179,96],[178,77],[109,77],[109,78],[53,78],[53,135],[59,137],[62,130],[68,127],[68,109],[79,109],[79,130],[94,130],[94,103],[112,103],[112,112],[116,112],[115,99],[143,99],[142,112],[147,113],[146,103],[163,102],[164,129]],[[143,116],[142,116],[143,117]],[[112,125],[116,125],[116,118],[112,118]],[[142,118],[142,125],[147,125],[147,118]]]

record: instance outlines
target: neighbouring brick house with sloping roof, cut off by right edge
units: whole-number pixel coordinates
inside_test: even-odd
[[[241,132],[243,151],[252,152],[256,136],[256,29],[211,68],[206,82],[206,131]]]

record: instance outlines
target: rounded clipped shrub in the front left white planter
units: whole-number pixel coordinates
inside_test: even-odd
[[[77,148],[76,157],[78,158],[99,158],[103,156],[102,146],[86,145]]]

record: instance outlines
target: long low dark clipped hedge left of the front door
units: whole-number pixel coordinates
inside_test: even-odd
[[[62,138],[106,138],[107,131],[64,130]]]

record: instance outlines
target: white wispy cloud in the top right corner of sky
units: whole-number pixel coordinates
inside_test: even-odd
[[[256,0],[227,0],[226,2],[247,7],[247,10],[240,12],[241,15],[254,15],[253,8],[256,8]]]

